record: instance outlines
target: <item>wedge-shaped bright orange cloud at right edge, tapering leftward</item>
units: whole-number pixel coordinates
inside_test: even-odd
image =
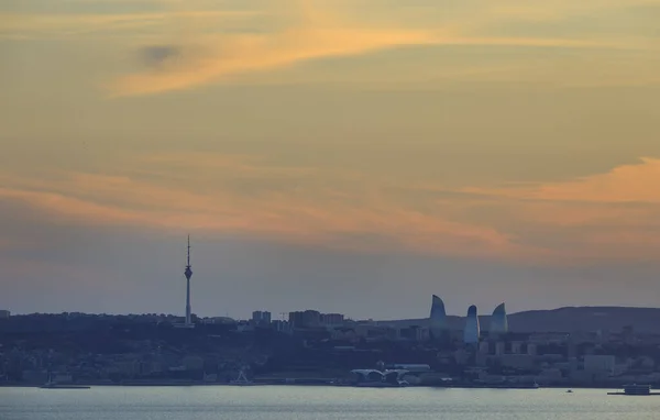
[[[557,255],[581,259],[660,257],[660,159],[645,157],[564,183],[527,187],[465,188],[465,194],[504,203],[509,218],[541,230]]]

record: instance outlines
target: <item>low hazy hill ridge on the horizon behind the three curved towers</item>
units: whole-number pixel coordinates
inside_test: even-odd
[[[488,329],[490,316],[481,316],[483,330]],[[451,329],[462,330],[464,317],[448,316]],[[428,325],[428,319],[381,321],[384,324]],[[510,313],[512,332],[576,332],[576,331],[620,331],[631,325],[635,331],[660,334],[660,308],[626,307],[568,307],[551,310],[535,310]]]

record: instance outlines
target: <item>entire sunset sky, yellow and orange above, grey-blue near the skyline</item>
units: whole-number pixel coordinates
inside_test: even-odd
[[[0,309],[660,302],[660,0],[4,0]]]

